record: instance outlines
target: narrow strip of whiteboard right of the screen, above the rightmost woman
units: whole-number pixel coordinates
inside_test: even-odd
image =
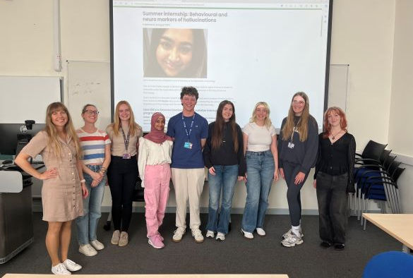
[[[347,111],[347,83],[349,65],[330,64],[328,82],[328,107],[340,107]]]

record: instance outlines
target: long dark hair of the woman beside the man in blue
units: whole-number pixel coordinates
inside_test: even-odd
[[[217,118],[215,119],[213,134],[211,135],[211,145],[215,150],[219,149],[222,145],[222,133],[224,132],[225,127],[225,120],[222,117],[222,110],[226,104],[230,104],[232,106],[232,116],[229,118],[229,126],[231,127],[232,138],[234,138],[234,152],[238,152],[239,142],[237,135],[237,123],[235,121],[235,107],[229,100],[223,100],[220,105],[218,105]]]

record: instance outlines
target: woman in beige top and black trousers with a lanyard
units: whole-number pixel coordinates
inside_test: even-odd
[[[114,122],[107,126],[106,132],[112,142],[111,163],[107,169],[114,225],[110,242],[123,247],[128,244],[133,188],[138,179],[138,140],[142,136],[142,128],[135,122],[131,105],[126,100],[116,104]]]

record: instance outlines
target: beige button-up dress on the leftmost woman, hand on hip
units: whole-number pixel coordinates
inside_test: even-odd
[[[43,220],[47,222],[66,222],[83,215],[82,188],[76,168],[76,148],[68,138],[61,140],[60,156],[56,156],[47,144],[49,136],[40,131],[23,147],[30,157],[42,155],[46,169],[56,168],[58,176],[46,179],[42,186]]]

